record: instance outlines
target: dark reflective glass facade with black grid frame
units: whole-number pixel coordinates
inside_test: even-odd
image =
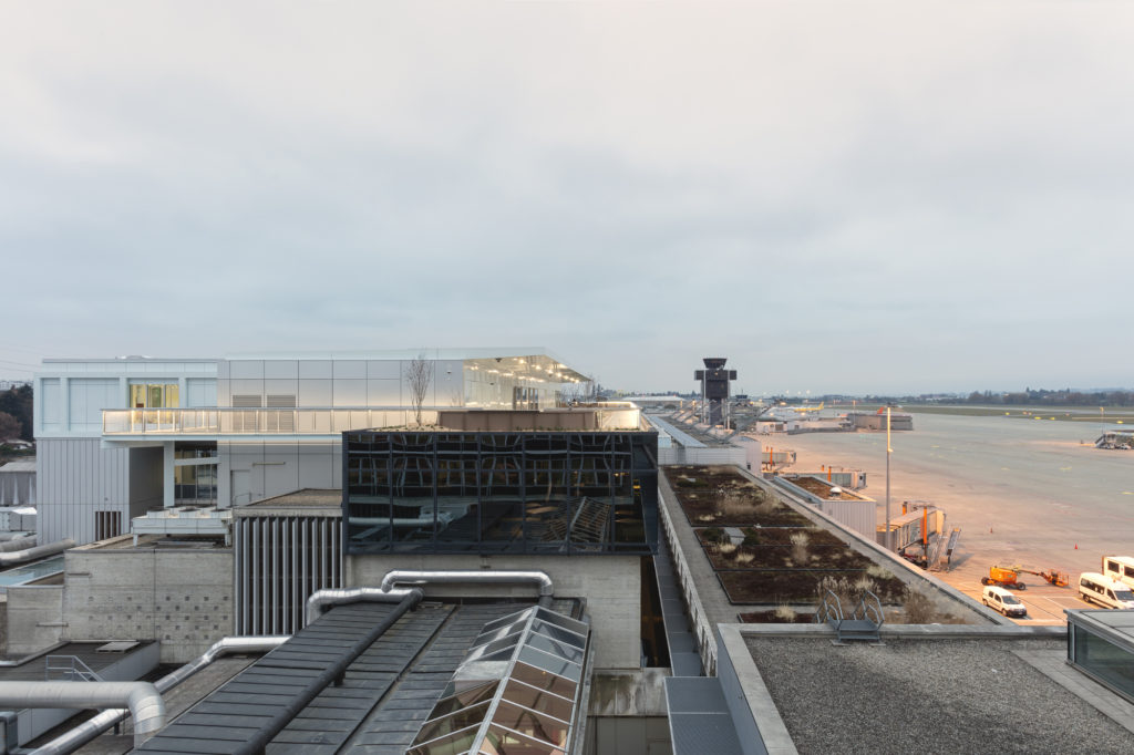
[[[344,433],[348,553],[653,553],[658,435]]]

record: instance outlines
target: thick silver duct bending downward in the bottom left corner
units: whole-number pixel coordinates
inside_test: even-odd
[[[166,703],[149,681],[0,681],[0,707],[122,707],[134,718],[134,746],[166,726]]]

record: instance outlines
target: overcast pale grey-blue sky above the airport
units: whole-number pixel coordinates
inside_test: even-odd
[[[0,379],[1134,385],[1134,3],[0,2]]]

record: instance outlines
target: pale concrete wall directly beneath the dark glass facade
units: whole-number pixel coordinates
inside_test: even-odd
[[[591,616],[595,669],[637,669],[642,661],[641,557],[638,555],[348,555],[346,587],[376,587],[393,569],[538,569],[555,583],[556,597],[582,597]],[[425,596],[532,597],[530,585],[426,586]]]

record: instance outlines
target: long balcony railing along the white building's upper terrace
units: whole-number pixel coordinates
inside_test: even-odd
[[[422,409],[422,424],[437,410]],[[348,430],[416,426],[412,408],[103,409],[103,435],[335,435]]]

